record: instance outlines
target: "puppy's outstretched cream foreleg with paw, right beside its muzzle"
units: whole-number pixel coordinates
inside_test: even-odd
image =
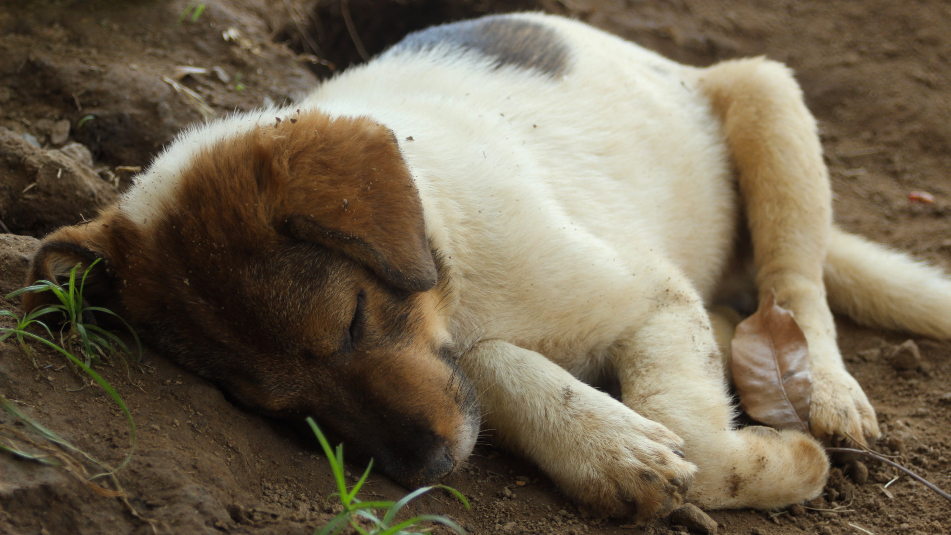
[[[460,365],[481,392],[484,426],[573,499],[640,519],[666,515],[682,502],[695,467],[667,427],[506,342],[479,342]]]

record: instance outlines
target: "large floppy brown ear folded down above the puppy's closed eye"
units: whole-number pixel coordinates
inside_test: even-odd
[[[436,286],[422,203],[390,129],[308,112],[272,131],[269,182],[282,189],[279,227],[340,250],[395,287]]]

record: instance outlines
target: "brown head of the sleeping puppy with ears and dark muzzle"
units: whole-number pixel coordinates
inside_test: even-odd
[[[317,112],[222,129],[184,135],[117,206],[50,234],[28,282],[100,258],[87,300],[184,367],[267,414],[313,415],[405,485],[447,474],[474,445],[476,398],[392,132]]]

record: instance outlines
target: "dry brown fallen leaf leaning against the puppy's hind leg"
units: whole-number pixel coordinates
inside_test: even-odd
[[[809,432],[812,373],[803,329],[772,292],[736,327],[730,369],[740,405],[758,422]]]

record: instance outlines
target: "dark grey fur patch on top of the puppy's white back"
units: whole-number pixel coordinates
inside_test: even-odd
[[[410,33],[392,51],[438,47],[471,50],[495,60],[495,68],[536,69],[549,76],[567,69],[568,47],[557,32],[534,21],[507,15],[444,24]]]

